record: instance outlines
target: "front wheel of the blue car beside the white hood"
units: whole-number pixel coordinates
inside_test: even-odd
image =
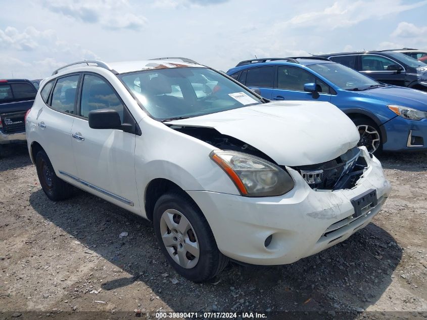
[[[383,140],[376,123],[368,118],[354,118],[352,120],[360,134],[360,141],[357,146],[365,146],[374,155],[380,154],[383,151]]]

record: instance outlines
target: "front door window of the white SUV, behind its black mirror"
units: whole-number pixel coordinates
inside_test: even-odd
[[[113,109],[123,123],[123,104],[113,88],[100,77],[85,74],[81,90],[80,116],[87,118],[89,112],[98,109]]]

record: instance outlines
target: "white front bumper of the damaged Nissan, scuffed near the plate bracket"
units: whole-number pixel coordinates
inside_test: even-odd
[[[381,163],[361,149],[368,167],[351,190],[314,191],[297,171],[289,169],[295,187],[280,197],[187,193],[205,214],[223,254],[251,264],[292,263],[346,240],[366,226],[386,201],[391,187]],[[350,199],[369,189],[376,189],[378,204],[352,218]],[[271,243],[265,247],[270,235]]]

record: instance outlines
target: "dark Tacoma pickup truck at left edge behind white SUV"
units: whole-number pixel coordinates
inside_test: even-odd
[[[36,93],[30,80],[0,80],[0,155],[3,145],[26,141],[25,113]]]

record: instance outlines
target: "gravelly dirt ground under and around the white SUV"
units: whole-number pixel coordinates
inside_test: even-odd
[[[139,310],[151,318],[159,310],[201,318],[210,311],[427,318],[427,154],[379,158],[392,194],[350,239],[291,265],[230,263],[212,283],[194,284],[166,262],[150,222],[78,190],[70,200],[48,200],[26,148],[7,148],[0,320],[135,318]],[[122,232],[128,236],[119,238]]]

